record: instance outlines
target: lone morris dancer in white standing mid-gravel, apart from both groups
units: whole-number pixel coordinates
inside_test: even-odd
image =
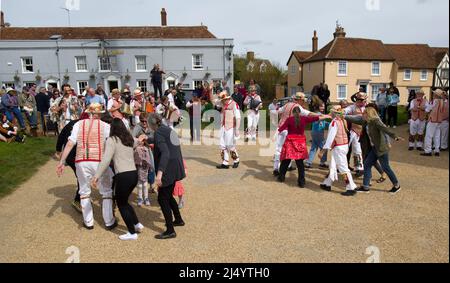
[[[222,164],[217,169],[230,168],[230,155],[233,159],[233,168],[239,167],[239,155],[236,150],[236,140],[239,139],[239,126],[241,124],[241,111],[239,106],[226,91],[219,95],[222,102],[221,128],[220,128],[220,150]]]

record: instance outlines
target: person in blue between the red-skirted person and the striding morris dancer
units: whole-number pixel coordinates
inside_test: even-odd
[[[321,103],[319,106],[319,111],[316,112],[317,114],[325,114],[325,104]],[[311,144],[311,150],[309,151],[309,159],[305,162],[305,168],[312,168],[312,163],[314,161],[314,158],[316,157],[316,153],[318,150],[322,150],[323,146],[325,145],[325,130],[328,129],[328,126],[330,125],[327,121],[317,121],[312,124],[312,131],[311,131],[311,138],[312,138],[312,144]],[[320,167],[321,168],[328,168],[327,165],[327,151],[324,151],[322,158],[320,159]]]

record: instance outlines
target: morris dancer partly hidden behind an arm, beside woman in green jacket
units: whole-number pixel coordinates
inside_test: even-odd
[[[356,94],[356,102],[344,109],[345,115],[362,116],[365,110],[367,100],[367,94],[359,92]],[[360,125],[352,124],[350,129],[350,141],[349,146],[352,147],[353,160],[356,170],[356,176],[361,177],[364,175],[364,166],[362,158],[361,144],[359,138],[361,137],[362,127]]]

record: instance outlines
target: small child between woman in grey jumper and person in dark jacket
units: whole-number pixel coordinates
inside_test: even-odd
[[[145,142],[139,143],[134,150],[134,162],[138,170],[138,201],[137,205],[141,207],[143,204],[150,206],[148,198],[148,172],[153,170],[151,164],[151,153]],[[144,198],[143,198],[144,197]]]

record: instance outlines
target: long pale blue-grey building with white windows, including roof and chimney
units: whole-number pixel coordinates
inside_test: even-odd
[[[166,73],[163,88],[194,89],[204,80],[233,82],[233,40],[205,26],[0,28],[0,83],[20,88],[71,84],[77,92],[101,83],[110,92],[152,90],[150,71]],[[4,21],[3,21],[4,22]]]

